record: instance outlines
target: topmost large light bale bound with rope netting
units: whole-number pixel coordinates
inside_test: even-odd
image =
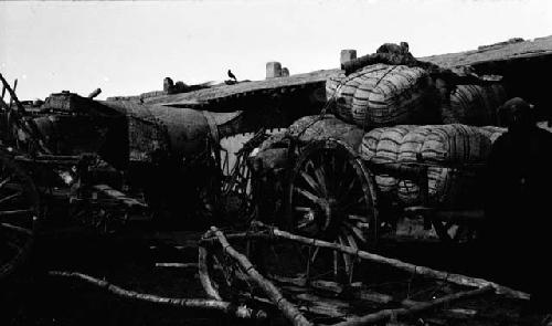
[[[336,99],[338,117],[364,129],[437,123],[437,92],[421,67],[374,64],[349,76],[340,72],[327,81],[326,91]]]

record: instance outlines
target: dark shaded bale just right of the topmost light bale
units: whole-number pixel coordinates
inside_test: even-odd
[[[450,105],[442,107],[443,123],[496,125],[497,109],[506,99],[501,84],[458,85],[450,94]]]

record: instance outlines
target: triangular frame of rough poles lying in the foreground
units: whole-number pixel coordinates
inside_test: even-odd
[[[227,235],[215,227],[212,227],[200,241],[200,280],[210,298],[222,299],[219,290],[221,290],[223,285],[216,283],[213,273],[217,270],[222,270],[226,271],[226,278],[245,278],[246,284],[250,286],[253,285],[261,291],[258,296],[256,295],[256,292],[251,292],[250,297],[254,297],[265,304],[269,303],[277,307],[291,325],[312,325],[312,322],[306,317],[309,313],[326,316],[331,320],[338,322],[337,325],[368,325],[395,319],[400,316],[417,315],[438,307],[448,307],[454,302],[490,293],[505,295],[516,299],[529,298],[529,295],[526,293],[514,291],[486,280],[447,273],[425,266],[417,266],[396,259],[381,256],[338,243],[296,235],[277,228],[264,225],[259,222],[255,222],[254,225],[254,231],[231,233]],[[371,313],[365,315],[355,315],[351,312],[351,304],[337,299],[336,295],[328,299],[322,298],[317,294],[312,294],[308,290],[309,287],[318,290],[322,288],[326,292],[341,294],[343,292],[343,286],[349,287],[350,290],[354,288],[353,284],[340,285],[338,283],[323,280],[309,280],[305,277],[289,278],[270,274],[265,276],[259,273],[258,270],[261,267],[253,264],[246,255],[232,246],[229,240],[236,242],[247,242],[250,240],[254,240],[254,242],[257,243],[259,241],[268,243],[283,241],[296,242],[301,245],[346,253],[351,257],[388,265],[393,269],[407,272],[411,275],[422,276],[463,288],[467,287],[467,290],[449,293],[440,297],[434,297],[433,299],[426,302],[416,302],[408,298],[397,301],[392,295],[385,295],[373,291],[361,291],[360,288],[357,288],[357,298],[362,297],[363,299],[372,302],[372,304],[376,303],[376,306],[380,306],[380,308],[376,308],[375,311],[372,309]],[[248,243],[251,245],[252,242]],[[217,256],[217,254],[221,253],[224,257]],[[213,262],[216,264],[231,264],[233,267],[225,269],[225,266],[215,266],[213,265]],[[236,266],[238,271],[236,271]],[[229,270],[232,273],[231,275],[227,274]],[[275,284],[278,284],[279,287]],[[290,293],[289,298],[285,296],[285,294],[287,295],[288,293]],[[308,302],[307,307],[305,307],[301,302]]]

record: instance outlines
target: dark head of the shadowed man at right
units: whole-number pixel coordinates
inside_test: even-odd
[[[535,126],[533,105],[521,97],[508,99],[498,108],[498,123],[509,130],[523,130]]]

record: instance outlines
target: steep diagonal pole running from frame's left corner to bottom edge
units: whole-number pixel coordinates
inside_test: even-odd
[[[278,309],[284,314],[284,316],[293,324],[297,326],[312,325],[305,316],[299,312],[299,309],[289,303],[280,291],[268,280],[266,280],[261,273],[255,270],[250,260],[237,252],[232,245],[230,245],[226,236],[215,227],[211,227],[212,233],[219,239],[222,245],[223,252],[235,260],[242,270],[250,276],[250,280],[254,282],[267,297],[278,307]]]

